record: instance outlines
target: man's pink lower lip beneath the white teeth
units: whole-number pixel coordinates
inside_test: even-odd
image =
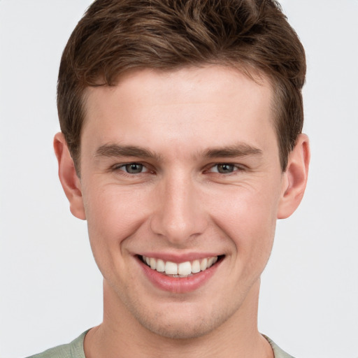
[[[177,294],[184,294],[199,289],[199,287],[203,286],[211,278],[211,276],[213,276],[217,270],[217,267],[220,266],[221,261],[222,260],[199,273],[194,273],[191,276],[183,278],[176,278],[152,270],[152,268],[144,264],[141,259],[138,259],[138,262],[141,264],[141,268],[143,269],[145,275],[153,285],[164,291]]]

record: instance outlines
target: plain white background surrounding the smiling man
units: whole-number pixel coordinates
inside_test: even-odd
[[[89,0],[0,0],[0,357],[67,343],[101,322],[86,223],[57,179],[59,59]],[[282,0],[306,48],[312,162],[278,222],[259,328],[295,357],[358,357],[358,1]]]

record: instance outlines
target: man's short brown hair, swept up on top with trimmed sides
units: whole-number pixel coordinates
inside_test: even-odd
[[[306,58],[274,0],[96,0],[78,22],[59,67],[61,130],[79,173],[88,86],[116,85],[131,69],[224,64],[268,76],[282,171],[303,126]]]

